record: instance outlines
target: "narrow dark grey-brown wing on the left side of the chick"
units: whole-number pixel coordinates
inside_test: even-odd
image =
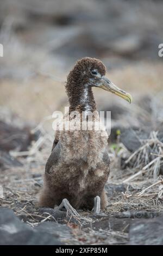
[[[61,145],[60,145],[60,142],[58,141],[57,145],[55,145],[55,147],[53,148],[52,153],[46,162],[46,166],[45,166],[46,173],[49,173],[51,170],[51,167],[58,163],[58,160],[60,158],[60,151],[61,151],[60,148],[61,148]]]

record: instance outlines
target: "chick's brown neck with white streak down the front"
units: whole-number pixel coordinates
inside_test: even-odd
[[[79,89],[80,88],[80,89]],[[79,86],[78,90],[72,90],[71,96],[69,97],[70,101],[70,112],[78,111],[80,113],[96,111],[96,102],[93,96],[92,88],[89,84],[85,86]]]

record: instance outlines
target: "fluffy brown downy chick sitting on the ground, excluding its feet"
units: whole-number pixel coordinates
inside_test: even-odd
[[[96,111],[92,87],[109,90],[131,101],[131,96],[112,84],[105,77],[101,60],[78,60],[67,77],[66,92],[70,102],[70,123],[81,121],[82,112],[88,118]],[[79,115],[71,117],[72,111]],[[65,120],[64,120],[65,121]],[[93,121],[99,121],[98,115]],[[40,205],[54,208],[66,198],[76,209],[93,208],[93,199],[101,198],[101,208],[107,205],[104,190],[110,171],[110,159],[106,150],[108,135],[105,129],[57,131],[52,153],[46,163]]]

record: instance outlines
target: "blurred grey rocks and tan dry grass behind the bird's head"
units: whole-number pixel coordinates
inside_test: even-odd
[[[162,89],[162,1],[1,0],[0,6],[1,115],[10,109],[37,123],[62,109],[66,75],[84,56],[103,60],[110,80],[134,102]],[[98,109],[122,102],[94,92]]]

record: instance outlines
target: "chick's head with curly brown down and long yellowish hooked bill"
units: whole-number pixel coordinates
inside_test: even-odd
[[[115,86],[105,74],[106,68],[101,60],[89,57],[82,58],[74,65],[67,77],[67,91],[68,89],[71,91],[72,88],[70,87],[72,86],[99,87],[131,103],[131,95]]]

